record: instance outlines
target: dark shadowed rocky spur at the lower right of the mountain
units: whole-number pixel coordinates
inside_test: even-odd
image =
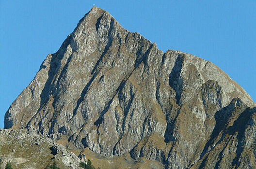
[[[233,99],[215,119],[210,139],[191,168],[256,169],[256,108]]]

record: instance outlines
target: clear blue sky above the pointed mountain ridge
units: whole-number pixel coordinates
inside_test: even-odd
[[[207,59],[256,100],[256,0],[0,0],[4,113],[93,4],[160,50]]]

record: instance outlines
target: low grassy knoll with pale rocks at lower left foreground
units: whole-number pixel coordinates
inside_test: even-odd
[[[8,161],[15,169],[46,169],[53,162],[61,169],[80,169],[85,162],[49,138],[26,129],[0,128],[0,168]]]

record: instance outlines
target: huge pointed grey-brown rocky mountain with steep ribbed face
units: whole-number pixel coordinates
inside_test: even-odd
[[[47,56],[4,125],[168,169],[253,168],[255,105],[211,62],[163,53],[93,7]]]

